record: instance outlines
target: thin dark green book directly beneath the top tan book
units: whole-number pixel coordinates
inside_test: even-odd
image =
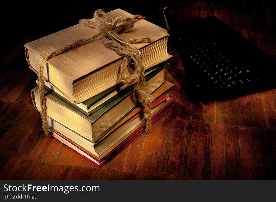
[[[161,64],[154,66],[153,69],[145,73],[145,77],[147,80],[154,77],[157,73],[163,70],[164,66],[167,65],[167,62],[162,62]],[[62,93],[60,93],[55,87],[51,86],[50,83],[45,82],[45,86],[52,89],[54,94],[59,96],[60,98],[64,99],[69,103],[69,101],[62,96]],[[46,87],[46,89],[47,89]],[[133,90],[133,86],[127,87],[127,85],[123,85],[122,83],[118,83],[114,87],[111,87],[107,90],[105,90],[102,93],[99,93],[98,95],[84,101],[80,104],[73,104],[73,106],[76,107],[76,109],[79,109],[80,112],[83,114],[90,116],[91,114],[95,113],[114,99],[120,97],[123,98],[123,94],[128,94]],[[121,99],[116,99],[117,102],[119,102]]]

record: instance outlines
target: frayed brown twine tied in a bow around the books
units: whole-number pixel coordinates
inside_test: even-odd
[[[97,24],[94,24],[89,19],[81,19],[79,23],[82,23],[91,28],[98,29],[100,32],[97,35],[88,38],[82,38],[67,44],[63,48],[54,51],[49,56],[47,56],[42,63],[39,65],[38,74],[38,86],[40,94],[40,105],[41,105],[41,119],[43,122],[43,130],[46,136],[50,136],[48,128],[50,127],[47,122],[46,113],[46,103],[44,96],[44,80],[43,80],[43,70],[44,65],[51,58],[58,56],[62,53],[70,51],[81,45],[86,44],[89,40],[96,39],[99,36],[103,36],[104,44],[109,46],[110,49],[114,50],[118,55],[123,56],[123,61],[120,66],[119,77],[121,82],[127,84],[128,86],[134,85],[134,90],[138,95],[138,100],[143,105],[143,109],[146,111],[146,129],[148,132],[151,128],[151,103],[153,97],[150,92],[148,92],[148,84],[144,76],[144,66],[142,64],[142,59],[140,51],[131,44],[135,43],[149,43],[151,40],[148,37],[143,37],[139,39],[127,39],[120,35],[125,32],[129,32],[134,23],[139,19],[145,19],[141,15],[135,15],[133,18],[117,17],[113,19],[108,13],[104,12],[102,9],[98,9],[94,12],[94,19]],[[131,72],[131,73],[130,73]]]

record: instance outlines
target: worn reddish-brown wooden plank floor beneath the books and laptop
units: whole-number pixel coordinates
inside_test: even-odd
[[[214,3],[215,2],[215,3]],[[173,20],[217,16],[276,58],[276,9],[267,1],[170,4]],[[137,11],[139,13],[139,11]],[[30,91],[37,76],[24,58],[22,35],[1,51],[1,179],[275,179],[276,89],[205,106],[185,93],[184,67],[173,45],[165,79],[176,107],[101,169],[52,137],[42,136]]]

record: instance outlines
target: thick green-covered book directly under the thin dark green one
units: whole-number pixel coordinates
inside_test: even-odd
[[[162,70],[148,81],[150,92],[155,91],[156,88],[163,84],[163,77]],[[45,89],[44,94],[46,98],[47,116],[92,141],[97,141],[101,136],[104,136],[106,132],[111,130],[138,104],[135,93],[132,91],[122,95],[124,96],[123,99],[120,97],[116,98],[92,115],[86,116],[50,91]],[[155,92],[152,95],[156,98]],[[38,87],[32,90],[32,98],[35,108],[40,111]],[[117,99],[121,99],[121,101],[118,103]]]

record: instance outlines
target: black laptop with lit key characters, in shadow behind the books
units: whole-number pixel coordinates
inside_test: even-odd
[[[196,101],[208,103],[276,88],[275,60],[220,19],[168,26]]]

